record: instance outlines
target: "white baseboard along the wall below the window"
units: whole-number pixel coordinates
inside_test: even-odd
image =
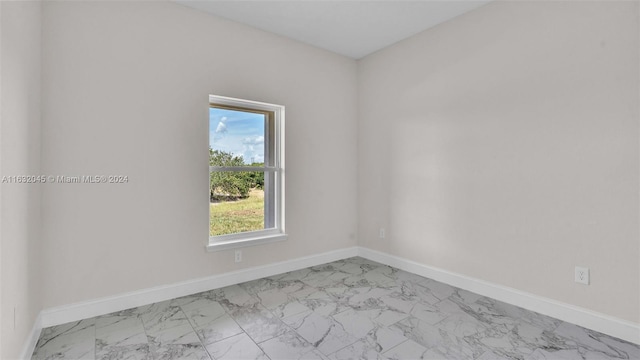
[[[272,276],[288,271],[304,269],[309,266],[321,265],[353,256],[358,256],[357,247],[340,249],[278,263],[232,271],[220,275],[183,281],[176,284],[156,286],[149,289],[133,291],[101,299],[44,309],[41,312],[41,325],[42,328],[60,325],[71,321],[78,321],[115,311],[165,301],[245,281],[256,280],[265,276]]]

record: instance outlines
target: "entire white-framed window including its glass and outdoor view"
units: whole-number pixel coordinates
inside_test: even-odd
[[[284,107],[210,95],[207,249],[285,239]]]

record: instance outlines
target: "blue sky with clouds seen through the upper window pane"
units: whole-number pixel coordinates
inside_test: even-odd
[[[209,145],[246,164],[264,162],[264,115],[209,108]]]

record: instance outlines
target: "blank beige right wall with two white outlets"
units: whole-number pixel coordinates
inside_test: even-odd
[[[638,30],[494,2],[360,61],[360,245],[639,322]]]

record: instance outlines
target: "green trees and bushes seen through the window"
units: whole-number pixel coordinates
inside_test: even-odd
[[[209,147],[209,166],[246,166],[242,156],[213,150]],[[263,166],[254,163],[251,166]],[[264,187],[264,173],[260,171],[213,171],[209,177],[212,201],[246,199],[253,188]]]

